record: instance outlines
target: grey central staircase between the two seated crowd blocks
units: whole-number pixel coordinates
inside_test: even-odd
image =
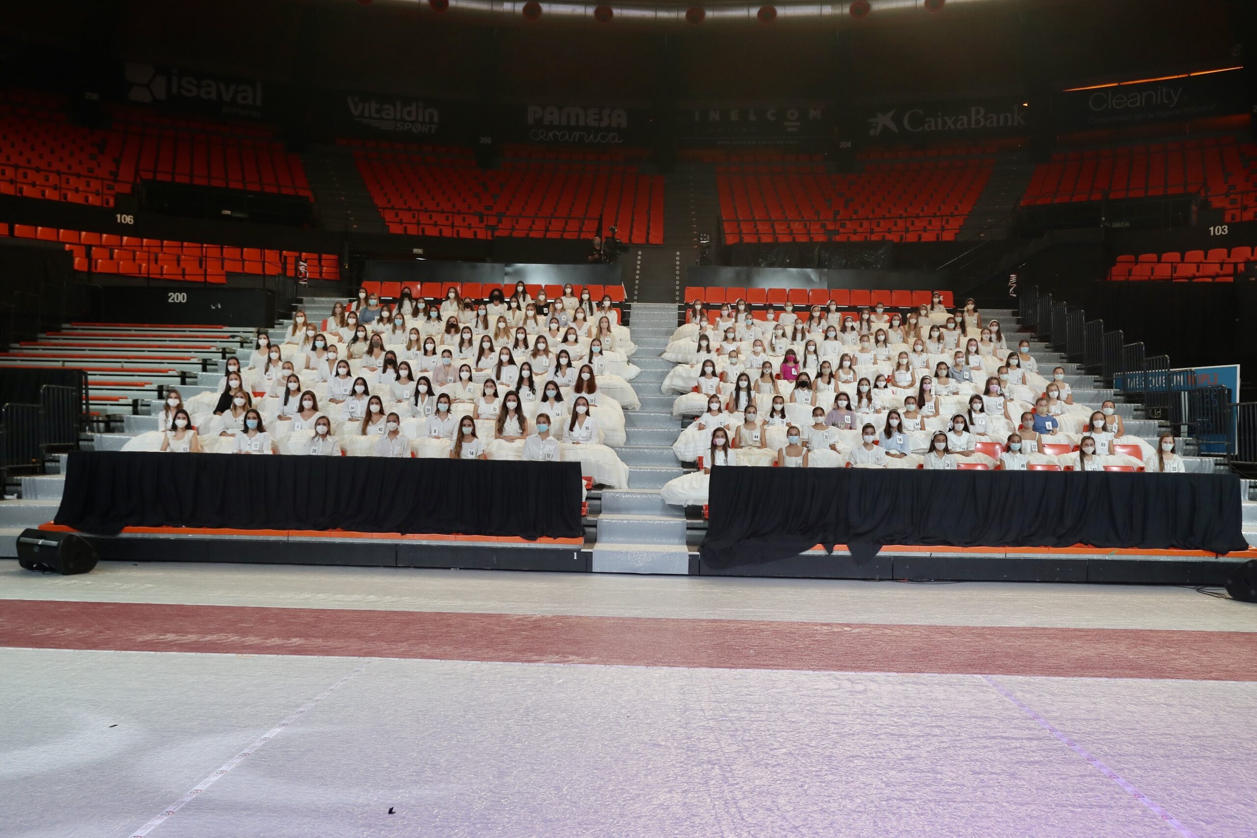
[[[660,392],[672,367],[660,356],[676,330],[676,305],[634,303],[628,327],[637,344],[632,362],[641,368],[631,382],[641,410],[625,413],[627,442],[615,450],[628,466],[628,489],[602,491],[592,567],[597,573],[689,573],[685,513],[659,494],[684,474],[672,454],[681,432],[674,397]]]

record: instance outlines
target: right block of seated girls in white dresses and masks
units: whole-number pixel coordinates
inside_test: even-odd
[[[698,474],[665,496],[705,494],[714,465],[1182,472],[1175,440],[1128,436],[1116,403],[1077,403],[1065,368],[1040,371],[974,302],[905,314],[813,307],[750,314],[744,300],[688,312],[664,357],[674,445]],[[670,501],[676,503],[676,501]],[[693,503],[693,501],[691,501]]]

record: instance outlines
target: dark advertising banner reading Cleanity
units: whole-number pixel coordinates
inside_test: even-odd
[[[1243,72],[1160,79],[1063,90],[1052,109],[1061,131],[1121,128],[1154,122],[1187,122],[1243,113]]]

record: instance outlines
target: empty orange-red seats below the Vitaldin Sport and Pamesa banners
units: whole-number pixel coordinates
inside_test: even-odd
[[[391,232],[664,242],[664,178],[620,163],[505,161],[363,148],[358,172]],[[600,227],[601,221],[601,227]]]

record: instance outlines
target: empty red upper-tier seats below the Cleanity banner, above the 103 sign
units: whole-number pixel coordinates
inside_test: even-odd
[[[1232,136],[1089,148],[1052,155],[1035,170],[1023,206],[1194,195],[1228,222],[1257,220],[1257,146]]]

